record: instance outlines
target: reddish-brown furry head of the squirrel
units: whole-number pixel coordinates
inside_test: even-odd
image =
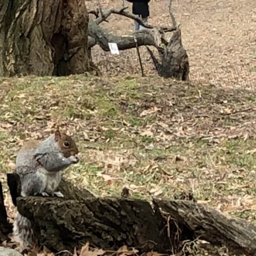
[[[58,142],[58,145],[62,149],[65,158],[68,158],[71,155],[74,156],[79,153],[75,142],[67,134],[56,130],[54,133],[54,139],[55,142]]]

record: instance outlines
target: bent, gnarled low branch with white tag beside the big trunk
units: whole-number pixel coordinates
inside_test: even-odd
[[[101,15],[92,20],[89,18],[88,25],[88,46],[89,48],[98,44],[103,50],[109,51],[108,43],[116,43],[119,50],[126,50],[134,48],[136,37],[138,46],[154,46],[159,52],[161,63],[153,57],[153,52],[148,48],[150,56],[158,70],[160,76],[166,78],[175,77],[179,80],[188,80],[189,64],[186,50],[181,43],[181,32],[176,28],[176,21],[171,13],[171,1],[169,5],[170,15],[172,15],[172,27],[153,27],[142,21],[137,15],[125,11],[127,7],[121,9],[111,8],[106,11],[101,10]],[[96,12],[98,14],[99,11]],[[143,25],[144,30],[136,31],[131,35],[116,36],[105,29],[98,26],[102,21],[106,20],[111,14],[119,14],[128,18],[136,20],[139,24]],[[173,32],[171,40],[168,42],[165,38],[165,32]],[[156,65],[156,63],[158,63]]]

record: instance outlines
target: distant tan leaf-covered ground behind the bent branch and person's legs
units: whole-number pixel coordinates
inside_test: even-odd
[[[104,1],[102,7],[118,7],[122,0]],[[131,11],[131,4],[127,2]],[[86,1],[89,10],[97,1]],[[152,25],[171,25],[169,0],[149,2]],[[224,87],[255,88],[256,5],[254,0],[173,1],[176,20],[181,23],[183,46],[190,61],[190,79]],[[133,31],[133,21],[112,15],[102,26],[116,34]],[[171,34],[170,34],[171,35]],[[140,47],[146,74],[155,73],[145,47]],[[99,47],[92,51],[94,62],[105,74],[140,74],[135,49],[111,55]]]

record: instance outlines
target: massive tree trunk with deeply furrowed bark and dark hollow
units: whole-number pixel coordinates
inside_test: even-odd
[[[89,70],[84,1],[0,4],[0,76],[69,75]]]

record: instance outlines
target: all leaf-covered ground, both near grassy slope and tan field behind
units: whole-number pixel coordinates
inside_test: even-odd
[[[117,0],[101,2],[104,8],[121,5]],[[168,2],[150,1],[150,23],[170,25]],[[92,9],[97,2],[86,1],[86,5]],[[255,86],[252,7],[252,0],[228,0],[221,9],[215,1],[174,1],[190,57],[191,79],[198,81],[189,86],[127,75],[140,74],[136,49],[117,57],[97,46],[92,57],[103,74],[124,74],[122,78],[1,78],[0,181],[10,220],[16,208],[5,173],[15,167],[18,148],[24,140],[40,139],[60,126],[75,136],[83,158],[65,176],[98,194],[119,195],[124,184],[132,196],[146,198],[159,188],[160,196],[166,197],[192,190],[198,202],[255,222],[256,97],[240,90]],[[225,26],[223,12],[229,19]],[[245,28],[235,23],[237,16]],[[125,30],[124,19],[113,15],[102,26],[111,30],[114,21],[115,33],[132,32],[133,22],[128,20]],[[155,74],[146,49],[140,47],[140,51],[145,73]],[[38,95],[42,88],[46,94]],[[225,247],[205,244],[196,255],[209,254],[230,255]],[[37,255],[53,254],[41,251]],[[159,256],[157,252],[144,255]]]

